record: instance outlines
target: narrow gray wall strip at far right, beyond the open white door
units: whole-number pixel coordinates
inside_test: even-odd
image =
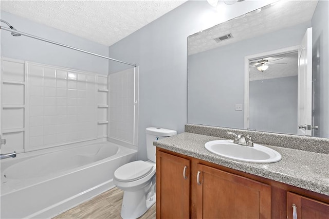
[[[329,138],[329,2],[319,1],[313,26],[314,124],[315,136]]]

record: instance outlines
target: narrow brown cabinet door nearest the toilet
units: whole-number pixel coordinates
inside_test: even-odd
[[[156,218],[189,218],[190,160],[157,151]]]

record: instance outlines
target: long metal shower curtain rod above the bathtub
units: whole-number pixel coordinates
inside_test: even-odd
[[[33,38],[33,39],[36,39],[36,40],[41,40],[41,41],[51,43],[51,44],[55,44],[55,45],[58,45],[58,46],[63,46],[63,47],[69,48],[69,49],[77,50],[77,51],[80,51],[80,52],[84,52],[84,53],[87,53],[87,54],[91,54],[93,56],[101,57],[101,58],[112,60],[112,61],[115,61],[115,62],[120,62],[120,63],[131,65],[131,66],[134,66],[134,67],[137,66],[136,64],[132,64],[132,63],[129,63],[129,62],[123,62],[123,61],[120,61],[120,60],[117,60],[117,59],[112,59],[112,58],[102,56],[102,55],[97,54],[97,53],[88,52],[88,51],[78,49],[78,48],[75,48],[75,47],[72,47],[72,46],[68,46],[68,45],[65,45],[65,44],[62,44],[62,43],[58,43],[58,42],[54,42],[54,41],[47,40],[47,39],[44,39],[44,38],[40,38],[39,36],[35,36],[35,35],[31,35],[31,34],[28,34],[28,33],[21,32],[21,31],[13,30],[13,29],[10,29],[10,28],[7,28],[7,27],[0,26],[0,29],[6,30],[6,31],[9,31],[9,32],[19,33],[21,35],[28,36],[29,38]]]

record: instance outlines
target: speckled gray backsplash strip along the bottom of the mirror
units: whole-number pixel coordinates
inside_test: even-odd
[[[267,144],[281,148],[290,148],[290,149],[297,149],[302,151],[329,154],[328,138],[316,138],[316,137],[299,136],[299,135],[230,129],[226,127],[215,127],[215,126],[195,125],[195,124],[186,124],[185,132],[226,138],[226,139],[232,139],[232,135],[227,134],[227,132],[234,132],[236,134],[250,135],[254,143]]]

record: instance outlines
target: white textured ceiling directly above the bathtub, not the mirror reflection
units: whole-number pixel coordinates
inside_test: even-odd
[[[1,10],[111,46],[186,1],[1,1]]]

